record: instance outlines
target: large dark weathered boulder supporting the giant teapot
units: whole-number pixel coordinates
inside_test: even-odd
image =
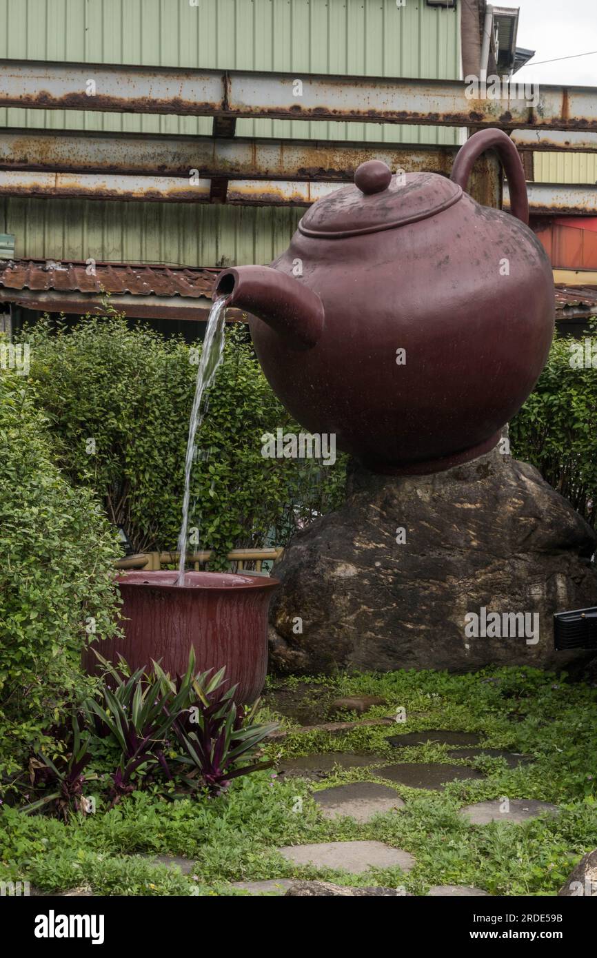
[[[497,447],[428,476],[357,468],[346,504],[297,533],[275,567],[272,664],[293,673],[471,671],[588,659],[554,650],[552,617],[595,603],[596,541],[537,469]],[[467,635],[465,616],[482,608],[528,613],[529,627],[537,613],[538,641],[532,631]]]

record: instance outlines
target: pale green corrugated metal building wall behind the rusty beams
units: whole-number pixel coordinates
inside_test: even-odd
[[[460,5],[425,0],[0,0],[0,57],[461,77]],[[0,109],[0,126],[210,134],[211,118]],[[457,143],[437,126],[241,120],[239,136]],[[300,211],[170,203],[4,199],[0,232],[19,258],[269,262]]]

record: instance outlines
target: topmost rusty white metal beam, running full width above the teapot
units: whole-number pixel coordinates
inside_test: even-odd
[[[473,92],[473,91],[472,91]],[[479,91],[476,91],[477,93]],[[597,131],[597,88],[0,60],[0,106]]]

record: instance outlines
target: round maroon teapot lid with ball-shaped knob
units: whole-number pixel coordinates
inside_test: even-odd
[[[298,228],[308,237],[344,239],[432,217],[457,202],[462,188],[439,173],[392,175],[380,160],[361,163],[355,185],[318,199]]]

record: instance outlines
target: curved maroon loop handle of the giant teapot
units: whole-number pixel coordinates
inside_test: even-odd
[[[478,133],[473,133],[471,139],[460,148],[454,160],[450,179],[465,190],[474,161],[486,149],[495,150],[506,173],[510,190],[510,212],[528,226],[529,199],[526,193],[524,170],[517,148],[503,130],[482,129]]]

